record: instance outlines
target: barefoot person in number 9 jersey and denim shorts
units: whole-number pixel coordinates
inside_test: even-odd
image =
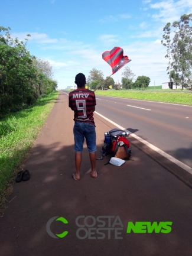
[[[85,88],[86,77],[79,73],[74,81],[77,89],[69,93],[69,108],[74,111],[74,151],[76,173],[73,174],[74,180],[80,180],[80,166],[82,163],[82,151],[84,138],[86,139],[89,150],[89,158],[92,166],[91,176],[96,178],[96,132],[93,112],[95,111],[96,99],[92,90]]]

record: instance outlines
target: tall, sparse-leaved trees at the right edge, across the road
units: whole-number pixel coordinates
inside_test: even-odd
[[[192,90],[192,14],[184,14],[180,21],[168,22],[163,28],[161,43],[167,47],[167,71],[170,82]],[[173,29],[173,31],[171,31]]]

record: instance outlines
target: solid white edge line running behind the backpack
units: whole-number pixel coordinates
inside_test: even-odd
[[[118,127],[119,129],[122,129],[123,131],[127,131],[129,132],[127,129],[121,127],[120,125],[116,124],[115,122],[111,121],[110,119],[106,118],[105,116],[99,114],[98,112],[94,112],[97,115],[100,115],[102,118],[106,119],[108,122],[110,122],[111,124],[115,125],[116,127]],[[149,143],[148,141],[143,140],[142,138],[140,138],[139,136],[132,134],[129,132],[129,134],[136,138],[136,140],[141,141],[142,143],[144,143],[145,145],[147,145],[149,148],[151,148],[152,150],[156,151],[157,153],[159,153],[160,155],[162,155],[163,157],[167,158],[168,160],[170,160],[171,162],[173,162],[174,164],[177,164],[177,166],[180,166],[181,168],[183,168],[184,170],[186,170],[188,173],[192,174],[192,168],[187,166],[187,164],[182,163],[181,161],[177,160],[176,158],[172,157],[171,155],[165,153],[164,151],[160,150],[160,148],[155,147],[154,145],[152,145],[151,143]]]

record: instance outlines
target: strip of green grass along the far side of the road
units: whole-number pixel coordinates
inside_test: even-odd
[[[185,92],[162,92],[145,90],[129,91],[129,90],[96,90],[96,95],[112,96],[128,99],[143,99],[145,101],[160,101],[169,103],[179,103],[184,105],[192,105],[192,93]]]

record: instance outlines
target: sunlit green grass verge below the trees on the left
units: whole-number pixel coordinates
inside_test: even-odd
[[[30,108],[0,120],[0,208],[57,97],[58,92],[50,93]]]

